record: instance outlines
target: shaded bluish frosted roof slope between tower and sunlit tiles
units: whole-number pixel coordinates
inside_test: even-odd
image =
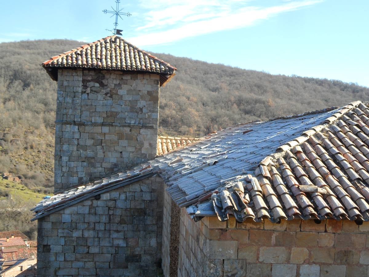
[[[329,108],[266,122],[239,124],[172,155],[158,157],[151,165],[160,168],[173,200],[180,206],[188,206],[227,179],[253,173],[278,147],[322,124],[339,110]],[[176,156],[182,161],[171,165]]]

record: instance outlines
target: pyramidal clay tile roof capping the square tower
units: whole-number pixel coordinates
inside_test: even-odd
[[[42,63],[54,81],[58,68],[108,69],[158,73],[160,85],[165,84],[177,70],[168,62],[137,48],[117,35],[82,45]]]

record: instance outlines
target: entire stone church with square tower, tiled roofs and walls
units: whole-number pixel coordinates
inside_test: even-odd
[[[39,276],[368,274],[366,103],[168,140],[167,153],[159,88],[175,67],[118,36],[43,66],[58,97]]]

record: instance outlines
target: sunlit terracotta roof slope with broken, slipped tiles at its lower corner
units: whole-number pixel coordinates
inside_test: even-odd
[[[360,102],[354,108],[346,106],[325,124],[279,147],[279,153],[263,159],[251,174],[187,211],[193,216],[213,213],[221,221],[229,214],[239,221],[248,217],[274,222],[296,217],[368,221],[368,116],[368,107]],[[243,190],[238,189],[239,182]],[[227,199],[230,205],[225,207]]]

